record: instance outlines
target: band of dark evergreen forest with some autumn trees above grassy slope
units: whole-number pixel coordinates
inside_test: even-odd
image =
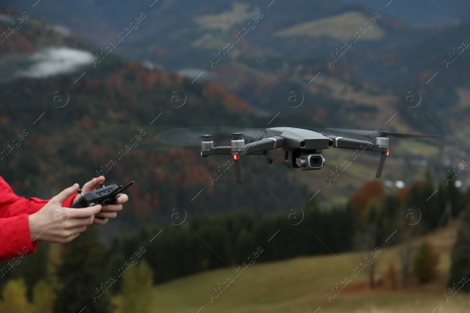
[[[463,216],[469,224],[469,199],[470,190],[438,184],[428,171],[423,180],[396,194],[371,181],[345,205],[306,201],[278,214],[210,214],[164,228],[142,228],[107,245],[99,241],[99,230],[92,226],[69,244],[40,243],[37,253],[18,258],[17,264],[1,262],[0,312],[13,312],[11,307],[17,308],[14,312],[32,312],[26,300],[40,307],[41,313],[75,312],[83,306],[90,312],[126,312],[134,297],[127,292],[130,288],[144,291],[145,286],[178,277],[242,266],[260,249],[257,263],[400,245],[406,253],[398,272],[406,283],[408,277],[418,275],[412,272],[412,261],[423,249],[410,245],[413,238],[453,218]],[[469,246],[468,237],[459,235],[454,253],[460,253],[461,261],[453,263],[449,285],[464,275],[462,260],[469,260],[464,254]],[[373,268],[367,269],[371,286],[377,283]],[[424,273],[423,281],[429,275]],[[23,290],[27,299],[14,288]]]

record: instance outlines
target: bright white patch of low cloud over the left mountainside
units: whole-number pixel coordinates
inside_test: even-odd
[[[37,78],[74,72],[83,65],[92,64],[94,55],[71,48],[47,48],[22,59],[30,69],[18,70],[15,76]]]

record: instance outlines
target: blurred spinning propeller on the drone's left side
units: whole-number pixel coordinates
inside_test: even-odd
[[[263,132],[260,135],[260,132]],[[201,138],[205,136],[210,136],[214,142],[219,142],[221,144],[229,144],[230,139],[233,137],[233,133],[240,133],[245,140],[251,139],[253,141],[254,137],[263,138],[266,135],[265,129],[235,129],[232,127],[191,127],[191,128],[179,128],[176,130],[167,130],[161,133],[158,133],[153,138],[162,144],[165,145],[180,145],[186,147],[199,147],[201,146]]]

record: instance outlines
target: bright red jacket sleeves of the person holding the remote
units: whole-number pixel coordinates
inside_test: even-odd
[[[75,195],[62,204],[70,207]],[[37,241],[31,242],[28,216],[36,213],[49,200],[18,197],[0,176],[0,261],[17,257],[19,252],[36,252]]]

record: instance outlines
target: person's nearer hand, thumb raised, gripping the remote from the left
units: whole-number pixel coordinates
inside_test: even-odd
[[[78,183],[50,199],[38,212],[28,217],[31,241],[67,243],[79,236],[94,221],[101,205],[82,209],[62,207],[63,201],[78,190]]]

